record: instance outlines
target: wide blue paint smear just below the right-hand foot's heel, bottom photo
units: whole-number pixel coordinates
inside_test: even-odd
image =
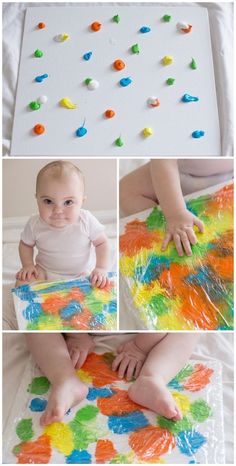
[[[125,414],[124,416],[109,416],[108,427],[114,434],[126,434],[135,432],[149,424],[147,418],[141,411]]]

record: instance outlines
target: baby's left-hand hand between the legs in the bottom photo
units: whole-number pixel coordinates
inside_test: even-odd
[[[94,349],[94,342],[90,335],[82,333],[80,335],[68,336],[66,344],[75,369],[80,369],[89,353]]]

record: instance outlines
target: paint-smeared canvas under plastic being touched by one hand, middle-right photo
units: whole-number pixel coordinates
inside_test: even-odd
[[[174,243],[161,251],[165,219],[157,207],[120,236],[121,289],[129,312],[152,330],[233,329],[233,184],[187,202],[205,225],[192,256]]]

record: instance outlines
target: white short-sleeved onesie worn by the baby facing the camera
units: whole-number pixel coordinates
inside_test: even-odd
[[[42,267],[48,280],[76,278],[88,275],[94,268],[95,241],[104,226],[88,211],[81,209],[78,222],[55,228],[33,215],[21,234],[23,243],[36,246],[36,264]]]

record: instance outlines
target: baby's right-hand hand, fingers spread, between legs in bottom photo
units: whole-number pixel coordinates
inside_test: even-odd
[[[112,370],[118,370],[118,376],[121,379],[125,373],[127,380],[131,380],[132,377],[137,378],[147,356],[145,352],[139,349],[132,340],[122,344],[118,348],[118,353],[112,363]]]

